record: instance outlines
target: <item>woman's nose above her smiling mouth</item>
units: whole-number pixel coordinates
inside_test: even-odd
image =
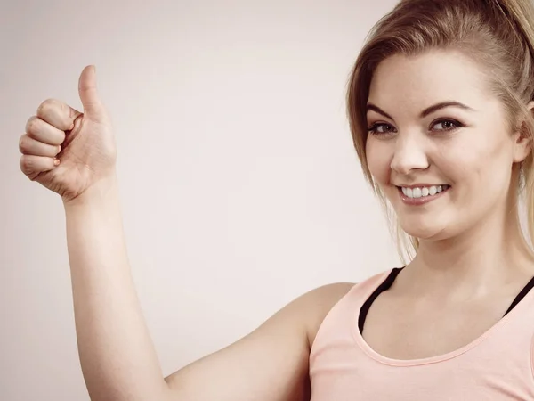
[[[395,172],[407,175],[413,170],[428,168],[429,161],[425,141],[417,135],[398,135],[391,162]]]

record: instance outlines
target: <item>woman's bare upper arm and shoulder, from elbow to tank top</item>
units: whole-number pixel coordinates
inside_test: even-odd
[[[323,319],[354,284],[308,291],[255,331],[166,377],[169,400],[309,401],[308,363]]]

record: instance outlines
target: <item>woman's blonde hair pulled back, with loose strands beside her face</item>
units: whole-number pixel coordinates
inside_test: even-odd
[[[347,113],[361,168],[392,222],[390,228],[397,237],[399,254],[405,262],[413,258],[419,242],[401,230],[391,205],[369,172],[367,102],[371,79],[381,61],[393,54],[417,55],[431,49],[454,49],[481,63],[490,78],[490,89],[506,108],[510,128],[514,132],[522,129],[530,138],[534,133],[534,119],[527,108],[534,99],[534,6],[531,0],[401,0],[392,12],[379,20],[353,67]],[[519,116],[525,121],[524,127],[517,126]],[[525,240],[530,245],[534,240],[532,165],[530,152],[522,162],[518,184],[527,209],[530,240]]]

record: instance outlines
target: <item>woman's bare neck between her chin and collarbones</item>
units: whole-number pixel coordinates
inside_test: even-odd
[[[534,274],[534,258],[522,236],[517,210],[510,207],[517,203],[506,203],[500,213],[456,237],[420,241],[409,266],[410,282],[418,291],[484,296]]]

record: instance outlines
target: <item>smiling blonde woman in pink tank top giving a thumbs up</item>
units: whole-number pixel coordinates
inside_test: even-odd
[[[368,181],[415,258],[321,287],[163,378],[125,252],[109,117],[46,101],[20,168],[61,195],[77,340],[93,400],[532,400],[534,7],[403,0],[361,51],[349,120]],[[532,237],[534,238],[534,237]]]

